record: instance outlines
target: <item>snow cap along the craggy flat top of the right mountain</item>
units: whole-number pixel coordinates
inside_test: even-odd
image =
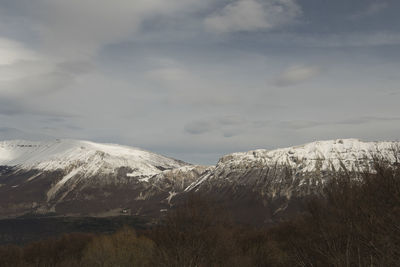
[[[395,161],[396,147],[400,142],[362,142],[358,139],[317,141],[301,146],[276,150],[254,150],[224,156],[218,164],[237,165],[245,162],[257,164],[301,166],[301,172],[319,170],[357,169],[364,159],[372,160],[374,155]]]

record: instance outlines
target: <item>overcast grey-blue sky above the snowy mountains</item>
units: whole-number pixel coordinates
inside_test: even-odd
[[[398,0],[0,0],[0,139],[197,164],[400,137]]]

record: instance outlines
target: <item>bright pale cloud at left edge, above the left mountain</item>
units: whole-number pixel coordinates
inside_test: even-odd
[[[61,90],[71,85],[77,74],[93,69],[87,61],[53,62],[17,42],[0,39],[0,55],[3,54],[0,60],[2,98],[37,97]]]

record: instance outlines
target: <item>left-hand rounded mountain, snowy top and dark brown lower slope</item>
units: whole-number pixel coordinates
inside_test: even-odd
[[[185,167],[190,173],[197,168],[137,148],[77,140],[1,142],[0,166],[2,216],[159,212],[158,202],[165,200],[168,206],[169,190],[175,190],[175,183],[182,187],[184,180],[177,181],[169,171]],[[187,177],[185,186],[197,178]]]

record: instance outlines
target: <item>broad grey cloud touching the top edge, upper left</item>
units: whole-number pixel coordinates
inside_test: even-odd
[[[194,0],[99,0],[48,1],[22,0],[1,5],[4,13],[16,12],[31,24],[53,57],[90,58],[99,50],[139,31],[146,19],[174,16],[198,10],[209,1]],[[95,7],[94,7],[95,5]],[[6,12],[7,11],[7,12]],[[18,16],[17,16],[18,18]]]

